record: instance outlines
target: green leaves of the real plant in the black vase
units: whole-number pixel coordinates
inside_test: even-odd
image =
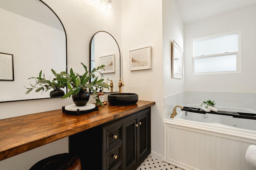
[[[81,88],[84,90],[86,88],[89,88],[94,94],[98,94],[97,89],[102,87],[108,88],[109,85],[106,84],[103,78],[99,78],[98,76],[95,76],[95,72],[99,72],[98,70],[104,69],[105,65],[98,66],[97,68],[93,68],[91,72],[87,70],[86,65],[81,63],[84,66],[85,72],[84,74],[78,74],[73,71],[72,68],[70,68],[70,72],[66,73],[66,77],[59,77],[57,80],[61,80],[63,82],[66,82],[67,87],[69,89],[69,92],[66,93],[62,98],[70,97],[72,94],[78,94],[80,92]],[[100,75],[103,77],[102,73]],[[90,81],[91,80],[91,81]],[[100,100],[96,99],[97,102],[100,102]]]

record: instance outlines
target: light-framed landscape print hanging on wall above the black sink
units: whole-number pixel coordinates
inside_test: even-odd
[[[130,70],[151,69],[151,47],[130,51]]]

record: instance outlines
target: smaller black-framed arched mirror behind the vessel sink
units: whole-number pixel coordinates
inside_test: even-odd
[[[90,41],[90,71],[97,66],[104,64],[105,70],[100,70],[104,79],[113,82],[113,92],[118,92],[118,82],[121,78],[121,64],[120,64],[120,48],[116,39],[106,32],[99,31],[92,36]],[[105,89],[105,92],[111,92],[110,88]]]

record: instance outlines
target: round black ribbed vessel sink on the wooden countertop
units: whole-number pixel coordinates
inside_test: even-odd
[[[108,95],[108,102],[114,106],[128,106],[138,102],[138,94],[112,93]]]

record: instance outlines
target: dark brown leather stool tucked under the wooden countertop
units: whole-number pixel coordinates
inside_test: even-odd
[[[29,170],[81,170],[81,162],[78,156],[62,153],[36,162]]]

